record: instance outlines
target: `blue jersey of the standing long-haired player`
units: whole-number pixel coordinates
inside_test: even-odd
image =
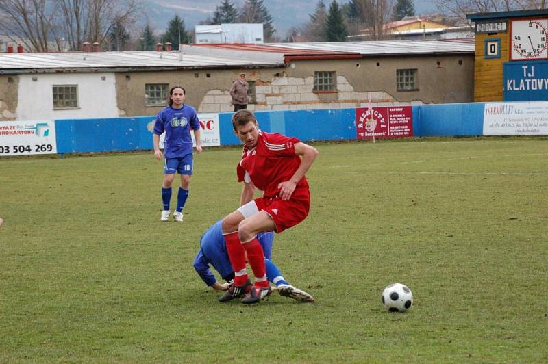
[[[164,139],[164,155],[166,158],[184,157],[192,153],[192,137],[190,129],[200,127],[194,107],[183,104],[180,109],[168,106],[156,116],[154,133],[161,135],[166,132]]]

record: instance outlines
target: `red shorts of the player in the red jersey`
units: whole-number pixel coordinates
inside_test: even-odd
[[[276,233],[282,233],[285,229],[299,224],[306,219],[310,211],[310,190],[296,188],[289,200],[281,197],[256,198],[255,203],[259,211],[268,213],[276,224]]]

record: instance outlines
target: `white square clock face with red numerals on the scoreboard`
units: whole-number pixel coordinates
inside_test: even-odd
[[[511,60],[548,58],[548,19],[512,21]]]

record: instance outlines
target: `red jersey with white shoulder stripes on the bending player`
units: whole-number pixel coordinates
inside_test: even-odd
[[[242,160],[236,168],[238,182],[244,181],[247,172],[253,185],[264,191],[264,197],[276,196],[279,193],[278,184],[289,181],[301,166],[301,158],[295,155],[296,143],[299,143],[297,138],[259,131],[255,148],[247,149],[244,146]],[[308,187],[306,177],[297,183],[299,187]]]

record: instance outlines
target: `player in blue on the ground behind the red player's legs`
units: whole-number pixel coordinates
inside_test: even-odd
[[[226,291],[229,284],[234,281],[234,270],[232,269],[230,259],[228,258],[225,239],[223,238],[223,232],[221,231],[221,221],[222,220],[216,222],[216,224],[211,226],[201,236],[200,250],[194,259],[194,269],[206,285],[217,291]],[[272,254],[272,242],[274,239],[274,234],[272,231],[258,233],[257,238],[259,239],[264,251],[266,277],[269,281],[276,285],[279,294],[301,302],[314,302],[314,298],[312,298],[310,294],[290,285],[284,279],[282,273],[279,272],[277,266],[270,260]],[[227,283],[219,283],[216,281],[214,274],[210,270],[210,265],[212,265],[213,268],[221,274],[221,277],[223,277]],[[235,297],[225,295],[221,296],[221,298],[219,298],[221,302],[226,302]]]

